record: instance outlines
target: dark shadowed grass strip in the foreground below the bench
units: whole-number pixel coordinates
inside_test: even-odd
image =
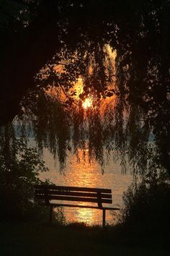
[[[114,228],[0,223],[0,256],[169,256],[157,242],[136,241]]]

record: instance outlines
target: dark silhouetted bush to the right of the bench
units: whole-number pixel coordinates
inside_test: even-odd
[[[133,229],[169,231],[170,184],[168,182],[141,182],[132,184],[124,194],[125,208],[122,221]]]

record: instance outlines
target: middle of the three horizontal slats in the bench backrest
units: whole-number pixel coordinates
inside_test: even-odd
[[[35,195],[69,195],[69,196],[78,196],[78,197],[99,197],[99,198],[112,198],[112,194],[104,193],[88,193],[88,192],[71,192],[71,191],[58,191],[58,190],[48,190],[48,189],[36,189]]]

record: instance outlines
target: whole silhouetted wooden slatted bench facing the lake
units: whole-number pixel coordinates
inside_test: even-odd
[[[58,206],[75,208],[92,208],[103,211],[102,226],[105,226],[106,210],[120,210],[120,208],[104,207],[102,204],[112,204],[112,190],[91,187],[63,187],[55,185],[35,185],[35,199],[41,200],[41,204],[50,206],[50,222],[53,219],[53,208]],[[75,205],[70,203],[53,202],[74,201],[93,202],[93,205]]]

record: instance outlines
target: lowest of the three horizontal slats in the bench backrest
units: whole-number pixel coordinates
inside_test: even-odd
[[[89,197],[67,197],[61,195],[35,195],[37,199],[45,199],[45,200],[66,200],[66,201],[79,201],[79,202],[103,202],[103,203],[112,203],[112,199],[97,199],[97,198],[89,198]]]

